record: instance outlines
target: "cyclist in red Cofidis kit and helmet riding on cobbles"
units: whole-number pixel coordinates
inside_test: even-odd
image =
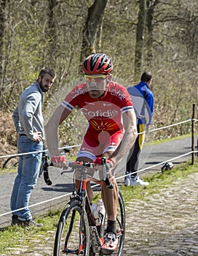
[[[86,83],[77,85],[66,99],[52,114],[46,125],[47,148],[50,151],[52,163],[56,167],[66,166],[66,157],[58,151],[58,126],[78,106],[88,127],[76,161],[94,162],[100,170],[101,157],[106,157],[110,168],[110,179],[114,189],[108,189],[102,181],[102,199],[106,208],[108,224],[103,253],[116,250],[116,208],[118,203],[118,188],[112,175],[115,167],[124,154],[135,143],[138,136],[135,111],[127,89],[111,80],[113,64],[103,53],[95,53],[87,57],[82,64]],[[92,201],[92,189],[87,184],[87,194]]]

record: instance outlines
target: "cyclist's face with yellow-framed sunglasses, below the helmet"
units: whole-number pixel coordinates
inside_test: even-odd
[[[84,75],[87,83],[87,89],[92,98],[98,98],[103,95],[106,85],[110,81],[110,75]]]

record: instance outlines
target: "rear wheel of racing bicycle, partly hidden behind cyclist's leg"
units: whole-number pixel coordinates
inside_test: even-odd
[[[106,222],[107,223],[107,217]],[[106,227],[101,227],[103,232],[105,233]],[[118,246],[115,252],[111,254],[111,256],[122,256],[122,252],[124,249],[124,236],[125,236],[125,208],[124,208],[124,200],[122,197],[122,193],[119,191],[118,198],[118,206],[117,206],[117,217],[116,217],[116,230],[118,237]],[[104,236],[104,233],[102,236]],[[101,233],[100,233],[101,234]],[[90,248],[90,256],[103,256],[101,252],[98,254],[97,252],[92,251],[92,247]]]

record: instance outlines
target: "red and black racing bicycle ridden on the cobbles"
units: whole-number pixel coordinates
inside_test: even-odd
[[[86,191],[87,181],[92,181],[100,186],[101,181],[93,178],[87,172],[88,167],[92,167],[92,163],[68,162],[68,166],[71,167],[71,172],[79,176],[79,185],[76,192],[74,178],[74,191],[70,201],[60,214],[53,255],[106,255],[100,251],[106,230],[106,214],[99,213],[100,225],[97,225]],[[62,173],[66,172],[68,170],[63,170]],[[106,181],[106,186],[111,189],[113,185],[109,181],[105,158],[103,158],[103,180]],[[124,247],[125,210],[124,200],[120,191],[116,230],[119,243],[116,252],[111,253],[111,255],[121,256]]]

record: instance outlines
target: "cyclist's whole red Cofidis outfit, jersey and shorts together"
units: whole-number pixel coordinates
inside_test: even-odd
[[[62,102],[68,110],[78,106],[88,127],[78,157],[92,160],[106,151],[115,151],[124,133],[122,113],[133,110],[130,94],[124,86],[110,82],[105,93],[92,99],[86,83],[76,86]]]

